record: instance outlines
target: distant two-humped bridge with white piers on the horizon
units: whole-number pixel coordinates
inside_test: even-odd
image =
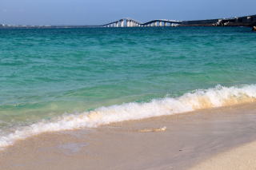
[[[138,22],[131,18],[122,18],[99,27],[150,27],[150,26],[178,26],[182,22],[176,20],[156,19],[150,22]]]

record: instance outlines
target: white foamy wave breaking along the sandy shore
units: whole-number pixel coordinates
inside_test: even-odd
[[[38,135],[42,132],[57,132],[78,128],[96,128],[118,121],[139,120],[198,109],[211,109],[256,101],[256,85],[198,89],[181,97],[154,99],[148,103],[126,103],[101,107],[89,112],[56,117],[53,121],[41,121],[33,125],[17,128],[6,136],[0,136],[0,148],[14,144],[16,140]]]

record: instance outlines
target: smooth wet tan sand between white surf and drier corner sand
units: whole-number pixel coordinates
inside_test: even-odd
[[[253,103],[45,133],[0,152],[0,169],[189,169],[256,140],[255,121]]]

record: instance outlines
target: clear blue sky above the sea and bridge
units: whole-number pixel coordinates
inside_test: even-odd
[[[100,25],[121,18],[197,20],[256,14],[256,0],[0,0],[0,23]]]

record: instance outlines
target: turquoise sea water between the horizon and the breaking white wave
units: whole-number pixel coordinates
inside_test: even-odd
[[[0,30],[0,128],[256,83],[244,27]],[[1,132],[1,131],[0,131]]]

